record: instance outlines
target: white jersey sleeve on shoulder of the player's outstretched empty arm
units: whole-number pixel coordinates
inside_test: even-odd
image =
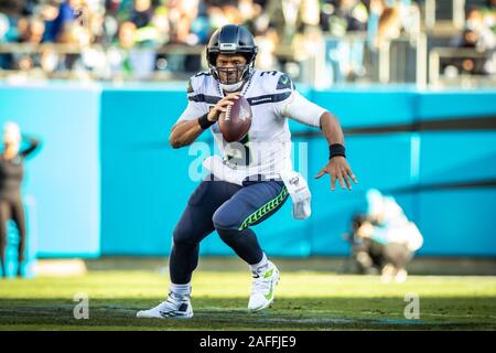
[[[288,75],[282,73],[279,75],[276,84],[276,92],[284,96],[284,99],[281,99],[274,105],[278,115],[309,126],[317,128],[321,126],[321,116],[326,109],[303,97],[295,89],[294,84]]]

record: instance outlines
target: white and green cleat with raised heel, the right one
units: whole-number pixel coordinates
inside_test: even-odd
[[[254,276],[248,310],[259,311],[268,308],[273,301],[273,292],[279,281],[279,270],[271,261],[267,269]]]

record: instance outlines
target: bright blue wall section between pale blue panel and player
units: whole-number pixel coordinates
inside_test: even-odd
[[[187,149],[169,147],[183,92],[108,89],[101,109],[101,250],[162,255],[195,184]]]

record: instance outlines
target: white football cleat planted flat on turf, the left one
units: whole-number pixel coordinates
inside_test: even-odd
[[[193,317],[193,307],[191,306],[190,297],[179,297],[173,292],[170,292],[168,300],[162,301],[160,304],[149,310],[138,311],[136,317],[155,319],[188,319]]]

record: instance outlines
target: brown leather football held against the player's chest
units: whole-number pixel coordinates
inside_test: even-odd
[[[218,117],[218,128],[227,142],[241,140],[251,126],[251,107],[248,100],[240,96],[234,104],[227,106],[226,113]]]

